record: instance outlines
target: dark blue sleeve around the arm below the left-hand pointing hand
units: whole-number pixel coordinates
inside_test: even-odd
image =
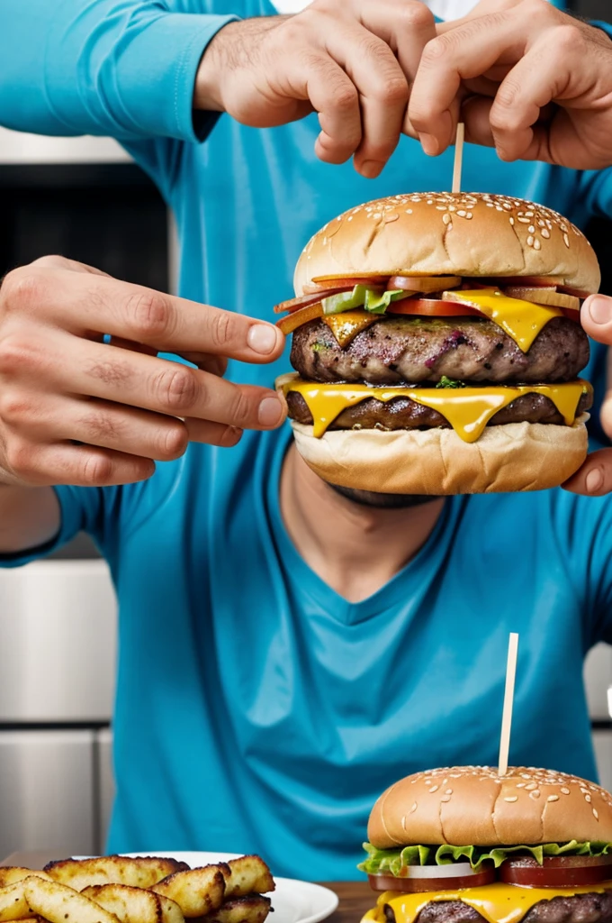
[[[28,548],[17,554],[0,555],[0,568],[19,568],[23,564],[46,557],[66,545],[76,533],[88,532],[98,542],[104,531],[104,497],[97,487],[54,487],[60,504],[60,528],[50,542]]]

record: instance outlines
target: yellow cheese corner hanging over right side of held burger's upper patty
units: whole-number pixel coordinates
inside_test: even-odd
[[[548,321],[563,317],[559,307],[535,305],[533,301],[509,298],[493,288],[477,289],[476,292],[445,292],[442,297],[447,301],[465,301],[477,307],[512,338],[522,353],[528,352]]]

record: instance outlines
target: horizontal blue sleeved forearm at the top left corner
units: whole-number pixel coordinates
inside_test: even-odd
[[[234,17],[176,7],[175,0],[7,5],[0,123],[38,134],[193,139],[200,58]]]

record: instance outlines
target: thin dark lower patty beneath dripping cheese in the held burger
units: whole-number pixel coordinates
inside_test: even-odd
[[[437,391],[440,394],[440,391]],[[456,391],[452,392],[457,393]],[[297,423],[312,425],[312,414],[301,394],[289,391],[287,395],[288,414]],[[578,404],[578,413],[589,410],[593,403],[590,394],[583,394]],[[544,394],[522,394],[516,401],[503,407],[488,422],[488,426],[503,426],[506,423],[552,423],[562,425],[563,417],[554,403]],[[368,398],[339,414],[329,429],[429,429],[432,426],[450,427],[450,423],[430,407],[423,407],[409,398],[394,398],[393,401],[377,401]],[[612,920],[610,921],[612,923]]]

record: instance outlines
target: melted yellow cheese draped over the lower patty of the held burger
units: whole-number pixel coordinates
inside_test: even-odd
[[[458,437],[465,442],[476,442],[482,436],[492,416],[523,394],[544,394],[552,401],[563,417],[566,426],[576,419],[578,403],[583,394],[593,392],[588,381],[578,378],[560,385],[516,385],[488,388],[371,388],[369,385],[334,385],[288,377],[282,385],[300,394],[312,414],[313,433],[321,438],[327,427],[347,407],[375,398],[393,401],[409,398],[415,403],[438,411]]]

